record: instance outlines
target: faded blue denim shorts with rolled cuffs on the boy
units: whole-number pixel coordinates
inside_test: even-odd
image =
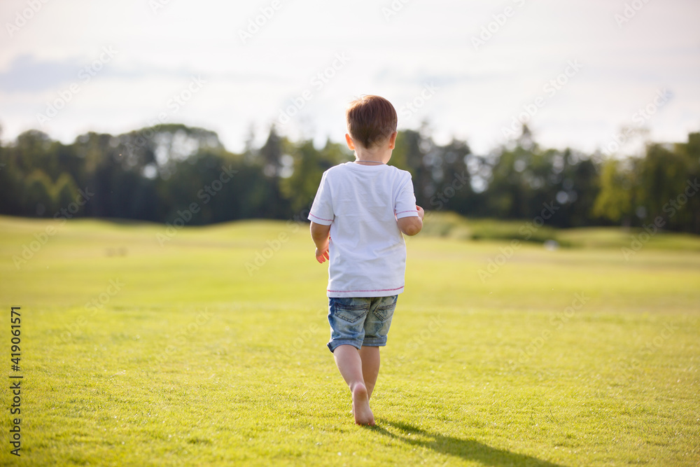
[[[398,295],[391,297],[328,298],[330,342],[328,349],[339,345],[383,347],[391,326]]]

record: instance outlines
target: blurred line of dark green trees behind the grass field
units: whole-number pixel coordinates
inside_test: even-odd
[[[290,141],[274,127],[242,153],[216,133],[168,124],[125,134],[89,132],[71,144],[29,130],[0,146],[0,214],[121,218],[202,225],[249,218],[305,220],[321,174],[353,160],[344,144]],[[437,144],[428,125],[402,130],[391,165],[411,172],[416,201],[464,216],[548,225],[643,227],[700,234],[700,133],[603,158],[542,148],[526,126],[489,154],[466,141]],[[191,208],[191,209],[190,209]],[[189,212],[189,214],[188,214]]]

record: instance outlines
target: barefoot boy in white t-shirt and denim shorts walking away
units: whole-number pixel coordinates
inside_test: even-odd
[[[411,174],[386,162],[396,142],[396,110],[383,97],[364,96],[346,111],[345,140],[355,151],[323,173],[311,206],[316,260],[328,267],[331,338],[328,348],[352,393],[355,423],[374,425],[370,396],[379,373],[379,347],[403,291],[406,244],[401,232],[423,228]]]

